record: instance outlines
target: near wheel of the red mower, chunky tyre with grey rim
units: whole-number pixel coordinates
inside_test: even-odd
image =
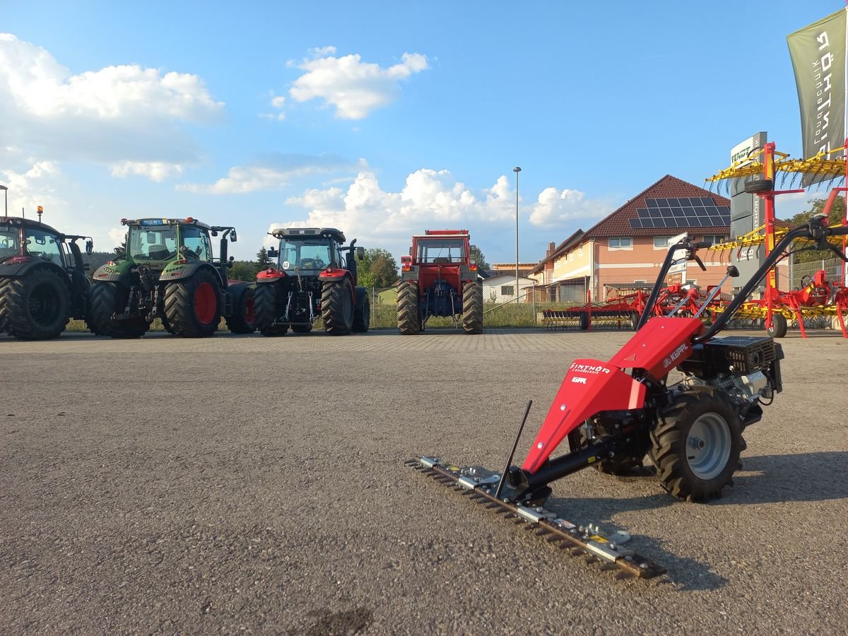
[[[650,433],[650,460],[662,487],[678,499],[707,501],[733,483],[745,450],[739,416],[722,394],[683,391]]]

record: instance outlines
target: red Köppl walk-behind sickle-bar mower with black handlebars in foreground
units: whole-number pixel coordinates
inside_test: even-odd
[[[550,483],[589,466],[615,475],[644,470],[647,455],[672,496],[699,502],[719,496],[739,468],[745,428],[760,421],[762,407],[782,390],[784,356],[768,336],[717,336],[793,241],[824,246],[848,234],[846,226],[828,226],[829,206],[824,211],[784,235],[711,326],[700,320],[710,300],[691,316],[652,317],[645,310],[637,332],[611,360],[574,360],[521,466],[512,466],[512,458],[530,404],[503,471],[428,456],[408,463],[602,569],[645,578],[665,572],[623,546],[627,533],[606,536],[596,525],[578,526],[545,508]],[[697,252],[710,247],[688,237],[672,245],[645,307],[655,307],[676,251],[701,265]],[[728,276],[738,274],[728,266]],[[670,382],[672,371],[682,373],[679,381]],[[554,456],[564,440],[567,452]]]

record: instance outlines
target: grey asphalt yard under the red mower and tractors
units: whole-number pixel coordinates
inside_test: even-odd
[[[549,507],[668,568],[597,565],[404,466],[519,458],[575,357],[626,332],[0,338],[0,633],[845,633],[848,340],[710,504],[582,471]]]

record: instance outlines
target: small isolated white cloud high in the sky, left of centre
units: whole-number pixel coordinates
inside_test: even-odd
[[[400,81],[428,68],[427,56],[421,53],[404,53],[401,59],[400,64],[388,68],[364,63],[359,54],[306,59],[298,64],[306,72],[294,81],[289,95],[298,102],[321,98],[336,108],[338,118],[361,120],[395,101]]]

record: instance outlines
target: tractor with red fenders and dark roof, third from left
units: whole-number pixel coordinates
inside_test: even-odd
[[[309,333],[317,318],[332,336],[367,332],[371,301],[357,287],[356,259],[365,250],[356,239],[344,246],[343,232],[332,227],[298,227],[270,232],[280,243],[268,256],[276,266],[256,276],[256,327],[263,336],[282,336],[289,328]]]

